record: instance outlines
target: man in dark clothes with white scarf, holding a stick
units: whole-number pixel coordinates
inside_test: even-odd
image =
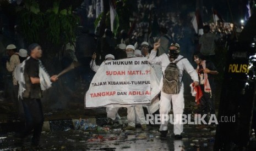
[[[26,127],[18,137],[20,142],[34,130],[31,146],[39,148],[40,135],[43,126],[42,112],[42,91],[51,87],[52,82],[56,82],[58,77],[50,77],[39,60],[42,56],[42,49],[39,44],[29,45],[28,51],[30,57],[21,63],[17,69],[17,80],[19,82],[19,97],[23,100],[24,113],[26,118]]]

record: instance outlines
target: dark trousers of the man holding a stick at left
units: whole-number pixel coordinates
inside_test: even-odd
[[[43,112],[40,99],[23,98],[23,107],[26,118],[25,130],[21,133],[21,137],[26,137],[34,130],[32,144],[38,145],[43,126]]]

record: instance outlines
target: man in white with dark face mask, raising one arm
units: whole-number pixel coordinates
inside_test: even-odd
[[[198,74],[190,64],[190,62],[183,58],[183,56],[179,55],[180,47],[177,43],[172,43],[169,47],[169,54],[162,54],[160,56],[156,56],[156,51],[160,47],[160,40],[154,44],[154,49],[151,51],[149,56],[150,63],[160,64],[162,66],[162,72],[165,72],[166,67],[169,63],[176,63],[179,69],[179,82],[181,83],[181,88],[178,94],[166,94],[162,91],[163,86],[163,77],[160,80],[160,89],[161,89],[161,98],[159,102],[159,112],[160,112],[160,137],[166,137],[168,132],[168,121],[164,118],[164,116],[169,117],[168,113],[171,110],[171,101],[173,104],[173,133],[175,134],[175,139],[180,140],[182,138],[181,133],[183,132],[183,124],[182,124],[182,114],[184,110],[184,85],[182,82],[183,71],[185,70],[193,80],[195,85],[199,84]],[[183,59],[182,59],[183,58]]]

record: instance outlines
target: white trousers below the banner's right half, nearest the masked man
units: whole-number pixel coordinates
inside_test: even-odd
[[[127,107],[127,120],[128,125],[133,127],[135,127],[135,123],[146,124],[142,105]]]

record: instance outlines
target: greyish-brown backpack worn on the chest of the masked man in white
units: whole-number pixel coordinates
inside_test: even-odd
[[[178,94],[179,89],[181,89],[181,82],[179,82],[179,68],[177,63],[182,59],[184,59],[184,57],[175,62],[169,63],[164,71],[162,91],[166,94]]]

